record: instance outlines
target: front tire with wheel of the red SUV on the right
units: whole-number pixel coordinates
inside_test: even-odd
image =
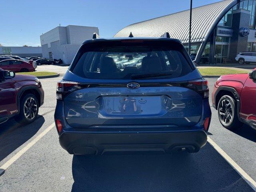
[[[229,95],[224,95],[218,103],[218,118],[222,126],[229,130],[240,128],[243,123],[239,121],[236,101]]]

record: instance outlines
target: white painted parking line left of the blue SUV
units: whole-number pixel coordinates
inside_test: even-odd
[[[29,142],[24,148],[22,148],[18,153],[16,153],[12,158],[10,158],[5,164],[0,167],[0,175],[4,172],[11,164],[13,164],[22,154],[24,154],[27,150],[29,150],[36,142],[38,142],[46,133],[48,133],[53,127],[55,123],[52,123],[48,126],[42,133],[40,133],[36,138],[34,138],[31,142]]]

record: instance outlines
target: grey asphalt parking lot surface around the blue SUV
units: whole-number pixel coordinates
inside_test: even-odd
[[[196,154],[96,157],[68,154],[59,145],[56,128],[52,126],[56,82],[67,68],[38,66],[37,70],[59,72],[61,76],[41,79],[45,99],[37,120],[27,126],[14,120],[0,126],[0,167],[18,157],[0,176],[1,192],[254,191],[209,143]],[[216,78],[208,81],[211,92]],[[247,126],[236,132],[226,130],[212,108],[208,136],[256,180],[256,130]],[[33,143],[34,140],[38,141]],[[27,145],[30,148],[25,148]]]

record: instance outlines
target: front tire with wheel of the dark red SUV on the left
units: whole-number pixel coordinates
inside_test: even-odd
[[[20,100],[20,113],[15,117],[15,120],[22,125],[32,123],[36,120],[38,110],[39,104],[36,96],[34,94],[26,94]]]

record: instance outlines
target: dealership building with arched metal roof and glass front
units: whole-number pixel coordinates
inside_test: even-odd
[[[188,50],[190,10],[126,26],[114,37],[160,37],[169,32]],[[235,62],[256,52],[256,0],[224,0],[192,9],[191,53],[198,63]]]

